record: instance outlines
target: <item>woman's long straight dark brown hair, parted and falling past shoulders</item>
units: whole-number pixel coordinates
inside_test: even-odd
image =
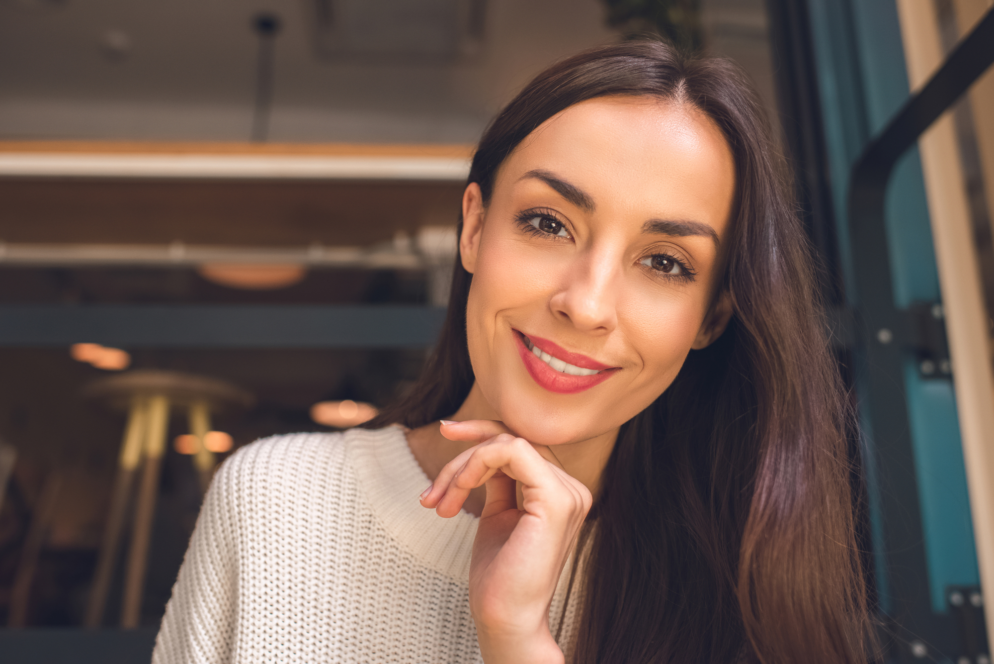
[[[657,42],[581,53],[540,74],[493,120],[469,182],[488,201],[522,139],[605,95],[689,103],[724,132],[737,168],[723,284],[734,315],[621,426],[581,533],[588,559],[575,661],[866,662],[852,416],[783,159],[742,71]],[[459,409],[473,384],[471,278],[456,260],[448,315],[420,381],[369,426],[422,426]]]

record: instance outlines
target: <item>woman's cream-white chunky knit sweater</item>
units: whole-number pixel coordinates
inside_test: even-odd
[[[266,438],[218,470],[152,655],[194,662],[479,662],[469,613],[476,517],[418,503],[430,483],[399,426]],[[570,565],[550,607],[561,645]]]

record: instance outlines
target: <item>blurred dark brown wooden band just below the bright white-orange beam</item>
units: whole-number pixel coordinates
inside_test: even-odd
[[[449,181],[0,178],[7,243],[369,247],[458,222]]]

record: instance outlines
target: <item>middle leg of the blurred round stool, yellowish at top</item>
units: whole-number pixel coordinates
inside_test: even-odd
[[[127,569],[124,574],[121,627],[125,629],[137,627],[141,618],[141,597],[148,564],[148,546],[152,537],[155,502],[159,493],[159,473],[162,470],[162,456],[166,450],[168,427],[169,400],[162,395],[151,397],[148,400],[148,418],[145,429],[145,463],[141,473],[141,484],[138,488],[134,528],[131,532],[131,548],[128,552]]]

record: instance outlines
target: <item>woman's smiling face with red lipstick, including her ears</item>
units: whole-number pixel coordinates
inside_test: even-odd
[[[637,415],[730,316],[719,292],[735,196],[721,130],[689,104],[578,103],[463,200],[469,356],[483,396],[536,443]]]

